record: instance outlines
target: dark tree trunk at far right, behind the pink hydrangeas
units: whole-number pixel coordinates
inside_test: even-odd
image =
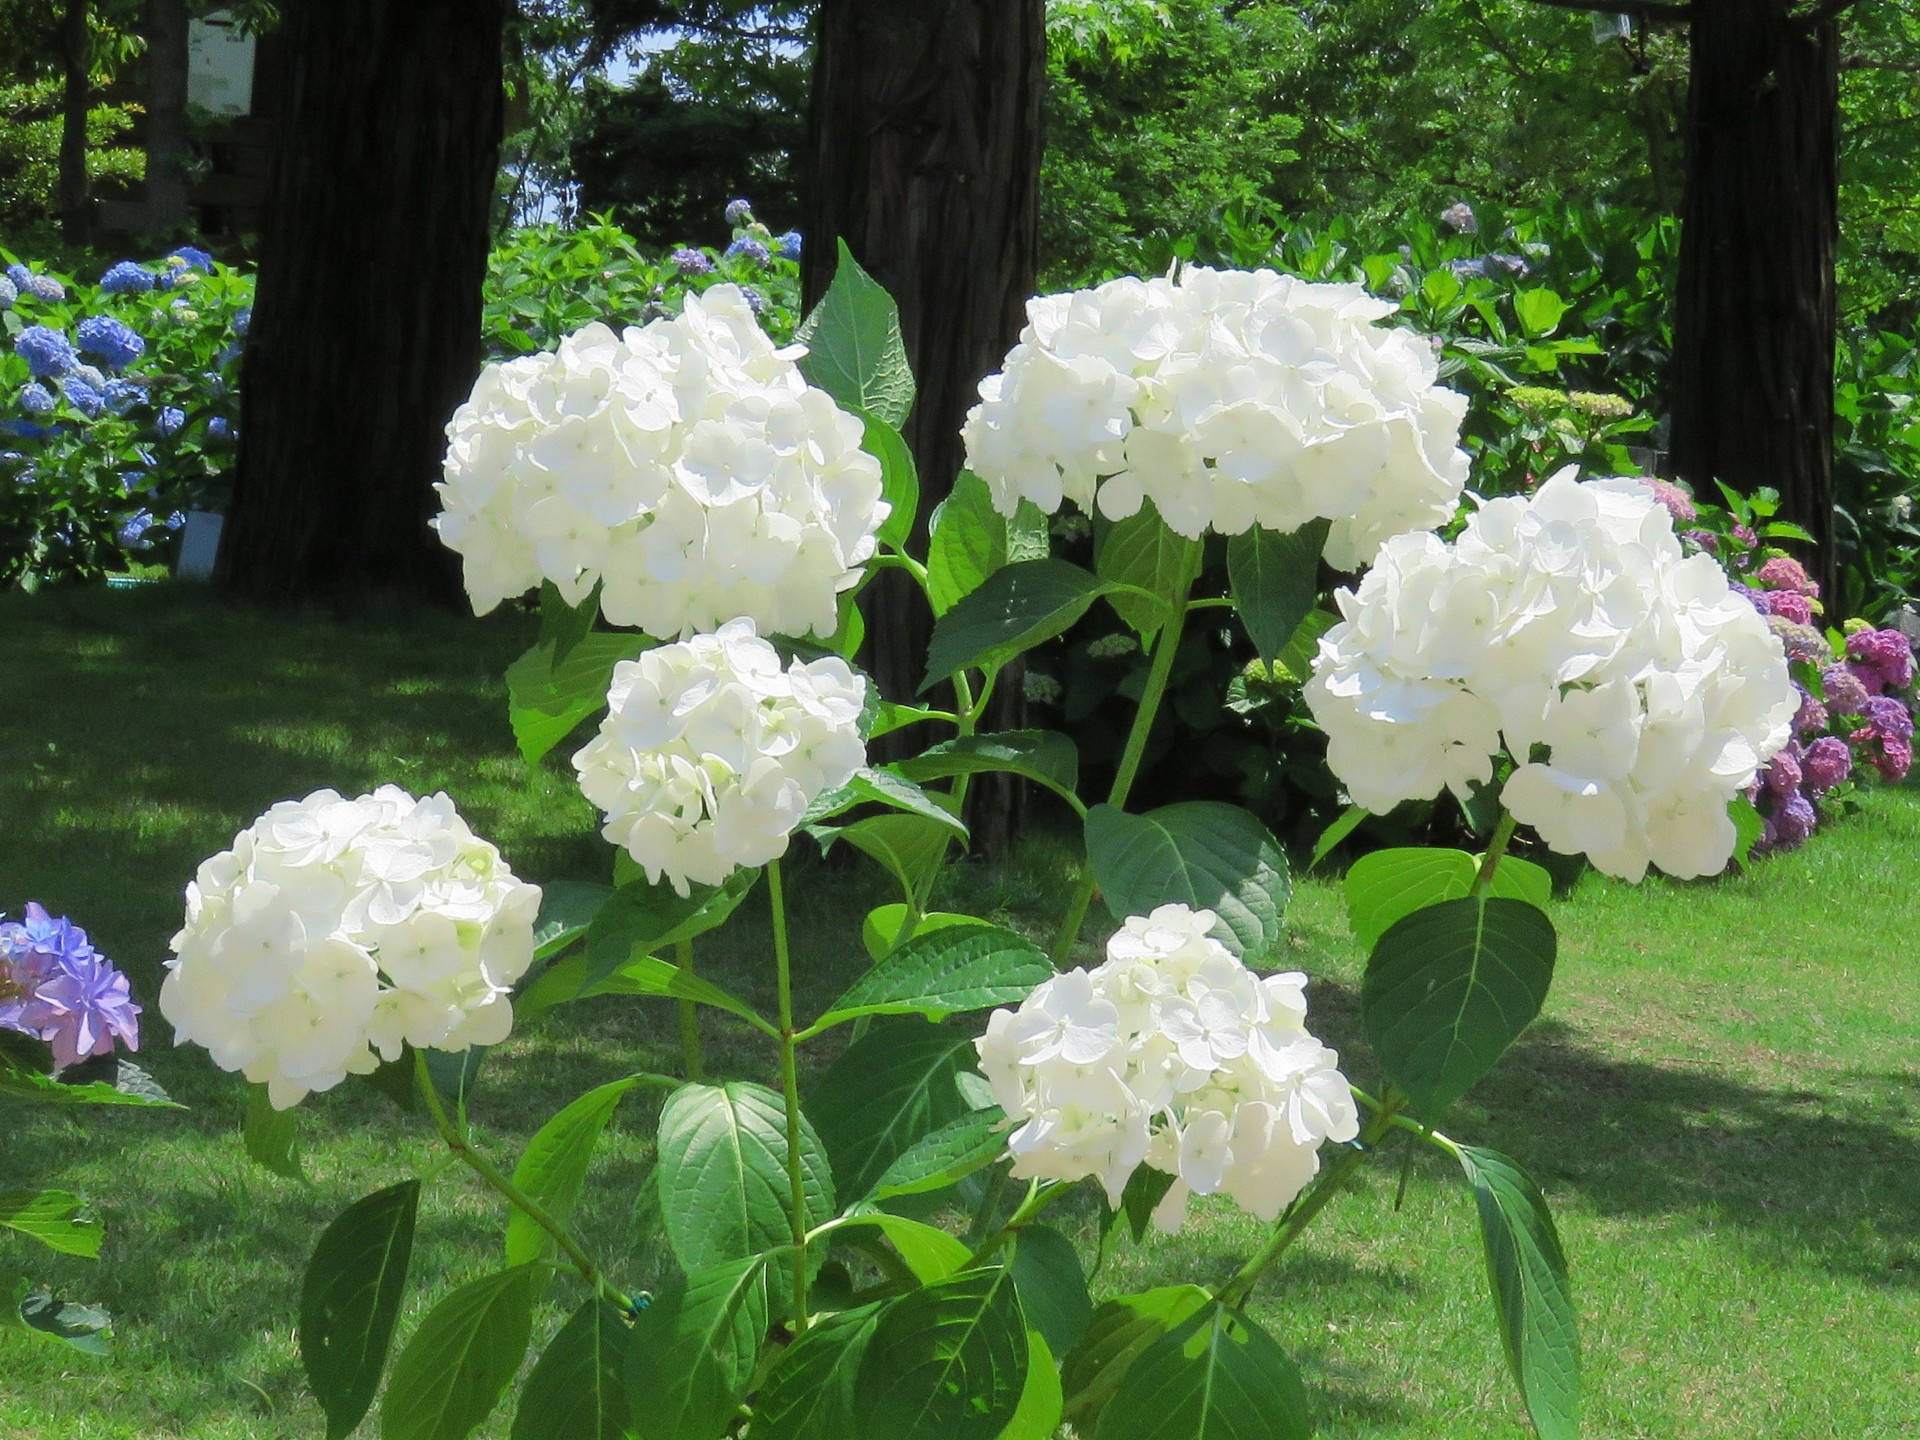
[[[1791,0],[1693,0],[1672,463],[1780,492],[1834,595],[1839,36]]]

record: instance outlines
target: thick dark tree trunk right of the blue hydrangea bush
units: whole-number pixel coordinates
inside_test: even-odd
[[[459,597],[438,509],[480,367],[507,0],[290,0],[221,588]]]

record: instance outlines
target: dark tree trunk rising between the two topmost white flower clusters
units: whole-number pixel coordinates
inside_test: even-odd
[[[824,0],[803,196],[806,301],[833,273],[835,238],[900,305],[920,396],[906,444],[920,467],[920,518],[952,488],[960,422],[981,376],[1025,323],[1035,284],[1043,0]],[[925,672],[933,616],[900,572],[868,589],[866,664],[904,699]],[[1008,676],[989,724],[1020,722]],[[996,776],[993,780],[998,780]],[[1018,791],[973,787],[975,851],[1002,851]]]

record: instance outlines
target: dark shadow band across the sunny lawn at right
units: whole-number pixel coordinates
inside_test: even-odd
[[[1313,983],[1313,1025],[1371,1068],[1352,987]],[[1828,1068],[1803,1089],[1620,1060],[1536,1021],[1442,1129],[1513,1156],[1549,1200],[1740,1227],[1778,1263],[1920,1286],[1920,1075]]]

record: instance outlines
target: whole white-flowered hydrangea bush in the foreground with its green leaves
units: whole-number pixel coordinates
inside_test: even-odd
[[[1123,346],[1073,319],[1110,303],[1133,307]],[[509,672],[524,758],[599,716],[572,760],[616,847],[611,883],[551,885],[528,916],[528,887],[451,806],[380,791],[276,806],[188,891],[161,1002],[186,1039],[269,1083],[250,1110],[255,1152],[284,1137],[273,1106],[378,1058],[376,1079],[411,1083],[449,1156],[505,1208],[503,1265],[434,1298],[392,1367],[424,1181],[324,1231],[300,1338],[328,1434],[359,1425],[382,1379],[386,1436],[470,1434],[520,1375],[536,1296],[561,1271],[576,1309],[526,1375],[516,1436],[1044,1440],[1069,1423],[1094,1440],[1296,1440],[1306,1392],[1248,1296],[1361,1165],[1432,1146],[1475,1196],[1534,1428],[1574,1436],[1576,1317],[1546,1200],[1505,1156],[1438,1129],[1553,977],[1548,876],[1509,845],[1524,814],[1624,876],[1724,866],[1728,806],[1799,705],[1780,639],[1711,561],[1686,559],[1642,488],[1565,476],[1482,507],[1453,543],[1392,536],[1448,516],[1457,409],[1419,348],[1382,342],[1344,288],[1194,275],[1037,301],[970,426],[989,474],[933,511],[925,547],[908,547],[920,493],[899,426],[914,382],[885,292],[841,250],[803,348],[780,353],[749,344],[743,307],[708,292],[678,321],[589,330],[530,357],[540,399],[495,372],[453,426],[444,534],[484,524],[495,551],[534,555],[509,568],[463,551],[480,609],[540,588],[541,637]],[[607,363],[572,369],[568,346]],[[1292,468],[1256,472],[1252,432],[1292,436]],[[851,501],[835,474],[860,478]],[[1327,474],[1359,493],[1342,499]],[[831,518],[776,507],[785,484]],[[541,499],[490,509],[522,492]],[[536,511],[576,503],[563,495],[597,526],[568,541],[597,545],[589,561],[538,549]],[[685,518],[664,518],[660,495]],[[1110,507],[1094,568],[1048,553],[1068,518],[1048,511],[1068,497]],[[1281,499],[1286,532],[1260,524]],[[735,505],[785,549],[714,543]],[[1311,576],[1340,524],[1338,543],[1384,545],[1315,649]],[[1208,530],[1227,536],[1225,595],[1194,589]],[[924,588],[937,624],[918,701],[852,670],[856,609],[762,605],[755,586],[787,584],[793,549],[808,593],[845,601],[883,566]],[[616,591],[634,607],[609,603]],[[716,622],[707,595],[749,609]],[[981,718],[1008,666],[1094,605],[1148,672],[1112,785],[1085,797],[1068,735]],[[1452,785],[1488,814],[1476,854],[1386,851],[1348,879],[1379,1094],[1311,1033],[1308,977],[1271,972],[1288,877],[1265,826],[1210,801],[1129,808],[1181,636],[1213,611],[1263,657],[1317,655],[1315,703],[1356,801]],[[641,614],[645,628],[620,628]],[[874,764],[868,741],[902,730],[925,743]],[[1085,862],[1046,947],[933,908],[983,772],[1044,785],[1083,822]],[[787,947],[781,858],[799,831],[899,887],[862,925],[872,966],[816,1014],[797,1012]],[[755,891],[772,920],[770,1014],[695,968],[699,937]],[[1096,893],[1116,925],[1087,964]],[[684,1073],[589,1091],[511,1167],[495,1160],[468,1127],[478,1052],[511,1021],[609,996],[678,1002]],[[701,1012],[764,1039],[778,1089],[707,1079]],[[799,1056],[828,1035],[841,1046],[803,1091]],[[636,1196],[674,1261],[657,1294],[572,1227],[595,1142],[636,1091],[664,1094]],[[1265,1233],[1217,1284],[1096,1306],[1075,1246],[1043,1219],[1087,1183],[1102,1238],[1179,1229],[1194,1196]],[[935,1223],[954,1210],[964,1227]]]

